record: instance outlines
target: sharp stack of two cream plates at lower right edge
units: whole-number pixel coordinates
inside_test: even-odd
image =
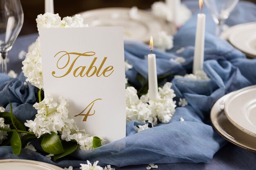
[[[220,98],[211,109],[211,122],[229,142],[256,152],[256,85]]]

